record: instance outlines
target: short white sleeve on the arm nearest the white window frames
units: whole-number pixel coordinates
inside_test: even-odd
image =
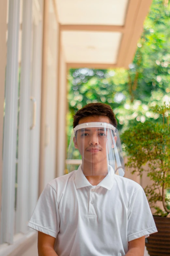
[[[60,217],[57,205],[56,191],[47,184],[36,204],[28,227],[57,237],[60,226]]]

